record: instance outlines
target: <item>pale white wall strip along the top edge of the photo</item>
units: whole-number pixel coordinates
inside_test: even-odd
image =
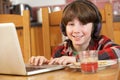
[[[10,0],[12,4],[27,3],[32,7],[65,4],[66,0]]]

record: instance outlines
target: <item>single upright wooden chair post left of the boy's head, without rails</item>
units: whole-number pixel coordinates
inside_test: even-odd
[[[48,9],[42,10],[42,39],[43,39],[43,51],[44,56],[48,59],[51,57],[50,48],[50,27],[49,27],[49,11]]]

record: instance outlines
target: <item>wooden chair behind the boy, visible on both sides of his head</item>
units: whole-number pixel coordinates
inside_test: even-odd
[[[101,34],[114,40],[112,6],[106,4],[104,9],[100,9],[100,12],[103,18]],[[42,8],[42,14],[43,51],[44,56],[50,58],[52,48],[62,42],[62,34],[59,27],[62,11],[49,13],[48,8]]]

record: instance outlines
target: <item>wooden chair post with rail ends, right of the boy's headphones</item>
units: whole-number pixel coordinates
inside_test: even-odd
[[[111,40],[114,40],[112,5],[106,4],[104,9],[100,9],[100,12],[102,15],[102,22],[103,22],[101,34],[106,35]]]

